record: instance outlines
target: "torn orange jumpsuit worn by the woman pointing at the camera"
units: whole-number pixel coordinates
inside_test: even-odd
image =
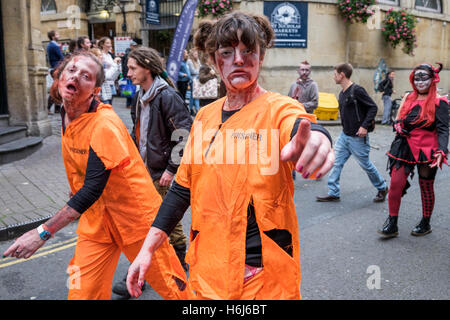
[[[225,98],[202,108],[176,182],[191,192],[188,294],[192,299],[300,299],[300,249],[292,162],[279,161],[303,106],[266,92],[222,123]],[[263,271],[244,284],[247,208],[252,202]],[[286,230],[289,255],[265,232]],[[194,238],[195,236],[195,238]]]

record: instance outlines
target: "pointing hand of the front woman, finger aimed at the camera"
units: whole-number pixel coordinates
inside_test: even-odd
[[[295,170],[305,179],[313,173],[320,178],[332,168],[334,150],[323,133],[311,131],[309,121],[300,121],[297,133],[281,150],[280,159],[293,161]]]

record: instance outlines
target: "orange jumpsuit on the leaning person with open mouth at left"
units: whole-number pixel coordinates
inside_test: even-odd
[[[133,261],[161,204],[136,146],[112,106],[84,113],[62,135],[62,155],[70,189],[84,183],[91,147],[111,170],[100,198],[78,222],[78,241],[69,267],[69,299],[110,299],[123,252]],[[183,295],[186,275],[166,241],[154,256],[147,282],[165,299]]]

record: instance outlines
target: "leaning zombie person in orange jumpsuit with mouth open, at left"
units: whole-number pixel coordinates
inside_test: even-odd
[[[58,230],[79,218],[68,267],[69,299],[110,299],[121,252],[133,261],[161,204],[136,146],[111,105],[97,101],[104,81],[90,53],[67,58],[51,93],[64,107],[62,155],[73,197],[38,229],[17,239],[4,256],[29,258]],[[147,277],[166,299],[182,298],[186,275],[164,241]]]

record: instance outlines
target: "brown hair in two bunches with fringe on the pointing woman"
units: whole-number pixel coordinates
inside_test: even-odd
[[[194,35],[194,46],[207,53],[212,61],[219,47],[236,46],[239,43],[238,30],[242,31],[241,41],[250,50],[257,46],[261,55],[267,48],[273,46],[275,33],[269,20],[262,15],[233,12],[225,15],[219,21],[202,21]]]

